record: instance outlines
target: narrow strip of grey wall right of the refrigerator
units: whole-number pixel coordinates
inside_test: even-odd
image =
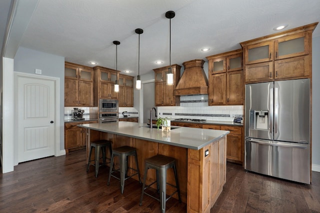
[[[318,26],[319,27],[319,26]],[[320,36],[312,38],[312,170],[320,171]]]

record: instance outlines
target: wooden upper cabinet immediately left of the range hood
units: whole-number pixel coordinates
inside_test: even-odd
[[[178,64],[171,65],[173,73],[173,85],[166,85],[166,74],[169,66],[153,69],[154,71],[154,102],[156,106],[180,105],[180,96],[173,95],[173,90],[180,79],[180,68]]]

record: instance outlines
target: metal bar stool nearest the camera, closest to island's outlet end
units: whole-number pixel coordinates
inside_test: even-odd
[[[156,170],[156,180],[151,184],[145,186],[146,174],[149,168],[154,168]],[[175,185],[172,185],[166,182],[166,171],[168,168],[173,168]],[[160,194],[160,198],[156,198],[151,194],[148,194],[147,192],[145,192],[145,189],[150,187],[155,182],[156,182],[157,191]],[[176,190],[172,194],[170,194],[168,198],[166,198],[166,184],[176,188]],[[143,194],[146,194],[160,201],[161,212],[165,212],[165,202],[175,193],[178,193],[179,202],[181,202],[179,182],[178,182],[178,177],[177,177],[177,172],[175,167],[175,159],[173,157],[168,157],[161,154],[157,154],[155,156],[145,159],[142,193],[141,193],[139,205],[142,205]]]

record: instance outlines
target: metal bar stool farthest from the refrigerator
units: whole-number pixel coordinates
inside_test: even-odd
[[[99,170],[99,166],[101,165],[105,165],[106,163],[109,162],[105,162],[105,158],[106,158],[106,148],[109,149],[110,151],[110,155],[112,155],[112,148],[111,148],[111,141],[109,140],[96,140],[96,141],[92,141],[90,142],[90,152],[89,152],[89,159],[88,159],[88,166],[86,168],[86,172],[89,171],[89,166],[90,165],[94,165],[95,167],[95,177],[98,176],[98,170]],[[94,159],[91,160],[91,152],[92,152],[92,148],[94,147]],[[102,164],[100,164],[100,151],[102,151]],[[108,158],[110,159],[110,158]],[[94,163],[92,163],[91,161],[94,161]]]

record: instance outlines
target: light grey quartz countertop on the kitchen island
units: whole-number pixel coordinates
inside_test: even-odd
[[[176,128],[169,132],[162,132],[160,128],[146,127],[146,123],[128,121],[86,123],[78,126],[196,150],[229,133],[229,131],[224,130],[180,126],[175,126]]]

